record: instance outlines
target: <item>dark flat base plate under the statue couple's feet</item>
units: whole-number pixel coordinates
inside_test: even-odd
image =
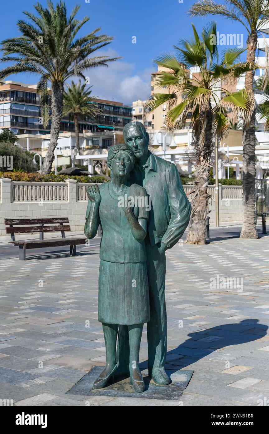
[[[120,381],[109,383],[105,388],[93,389],[93,383],[103,370],[103,366],[94,366],[90,372],[80,379],[69,391],[69,395],[85,395],[85,396],[115,396],[115,397],[135,397],[148,399],[167,399],[178,400],[183,395],[194,371],[185,370],[166,370],[171,383],[169,385],[156,385],[150,377],[148,377],[147,369],[141,370],[144,378],[145,391],[138,393],[134,391],[132,385],[129,384],[129,378],[123,378]]]

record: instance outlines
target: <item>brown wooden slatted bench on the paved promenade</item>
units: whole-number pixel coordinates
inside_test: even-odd
[[[60,218],[32,218],[32,219],[5,219],[6,233],[10,233],[14,246],[19,246],[19,259],[26,259],[26,249],[39,249],[41,247],[70,246],[70,256],[76,255],[76,245],[85,244],[86,238],[65,238],[65,231],[70,230],[67,217]],[[26,225],[26,226],[22,226]],[[45,226],[47,225],[47,226]],[[39,232],[39,240],[16,241],[15,233]],[[44,232],[61,232],[61,238],[48,238],[44,240]]]

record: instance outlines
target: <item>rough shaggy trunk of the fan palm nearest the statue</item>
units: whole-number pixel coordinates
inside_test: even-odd
[[[205,244],[206,217],[208,215],[208,179],[212,153],[212,111],[208,104],[205,111],[201,113],[202,118],[206,116],[205,131],[203,126],[199,137],[196,138],[196,164],[195,164],[195,187],[192,197],[192,212],[190,217],[190,228],[186,242],[190,244]]]

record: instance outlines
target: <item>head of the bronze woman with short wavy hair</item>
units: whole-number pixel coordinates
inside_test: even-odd
[[[125,144],[112,146],[107,155],[107,165],[116,176],[128,176],[134,162],[134,153]]]

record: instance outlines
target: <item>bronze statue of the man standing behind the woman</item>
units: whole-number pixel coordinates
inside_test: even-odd
[[[148,372],[158,385],[169,384],[164,366],[167,353],[165,305],[165,251],[182,237],[189,224],[191,205],[183,190],[179,172],[170,161],[152,154],[149,135],[141,122],[129,122],[123,129],[126,145],[134,152],[131,181],[144,187],[151,200],[146,237],[147,275],[151,319],[147,323]],[[120,326],[118,351],[128,355],[128,333]],[[124,370],[123,366],[119,366]]]

